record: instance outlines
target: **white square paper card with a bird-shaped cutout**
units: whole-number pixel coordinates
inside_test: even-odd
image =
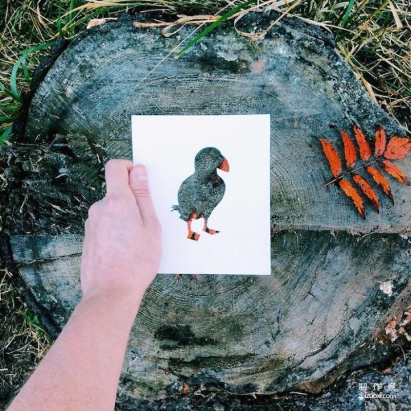
[[[132,116],[132,138],[162,225],[159,273],[271,274],[269,114]],[[208,229],[219,232],[203,231],[204,219],[190,219],[190,208],[208,214]],[[189,224],[197,240],[187,238]]]

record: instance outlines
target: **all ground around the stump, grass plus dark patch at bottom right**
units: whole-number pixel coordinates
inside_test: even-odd
[[[0,145],[5,138],[12,141],[10,125],[16,120],[21,101],[24,100],[21,96],[29,90],[29,78],[34,67],[47,53],[47,47],[42,47],[42,43],[59,36],[71,38],[85,29],[91,18],[115,18],[116,12],[125,11],[134,2],[117,0],[112,3],[112,7],[103,7],[91,1],[73,0],[2,2]],[[236,1],[234,5],[240,3],[241,1]],[[266,8],[277,5],[275,1],[265,4]],[[289,1],[288,4],[288,9],[282,6],[283,12],[314,20],[332,30],[337,39],[338,51],[353,67],[371,97],[408,129],[411,108],[408,1],[364,1],[357,5],[355,1],[298,0]],[[224,1],[153,0],[149,2],[148,8],[161,8],[164,21],[170,21],[178,18],[177,13],[213,14],[226,5]],[[248,9],[251,7],[252,4],[247,6]],[[219,15],[223,15],[227,10]],[[210,16],[207,19],[211,20]],[[34,48],[30,49],[31,47]],[[17,66],[16,62],[25,51],[27,61],[22,60],[21,66]],[[7,183],[0,170],[0,191],[5,190]],[[36,315],[19,295],[18,284],[11,273],[4,267],[1,268],[0,264],[0,409],[5,408],[5,403],[32,372],[36,363],[47,352],[50,343],[51,339],[42,331]],[[385,371],[382,371],[384,369]],[[201,387],[197,387],[189,388],[188,393],[178,400],[180,407],[186,407],[181,409],[187,410],[192,407],[196,410],[324,410],[329,409],[329,404],[345,410],[411,409],[410,351],[399,350],[399,355],[393,359],[392,364],[384,364],[382,370],[356,371],[319,397],[301,393],[256,398],[208,393],[207,397],[203,397]],[[393,392],[397,398],[360,401],[360,384],[365,382],[369,383],[368,388],[372,387],[371,384],[384,382],[384,389],[381,390],[384,394],[388,393],[385,389],[388,384],[395,384]],[[373,390],[369,389],[368,392],[373,393]],[[146,406],[147,409],[155,409],[152,404]],[[158,409],[174,410],[175,402],[169,402],[169,405],[164,403],[162,408]]]

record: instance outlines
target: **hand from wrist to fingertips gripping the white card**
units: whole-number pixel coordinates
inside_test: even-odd
[[[161,228],[147,169],[128,160],[105,164],[107,194],[88,210],[81,265],[83,298],[142,297],[160,264]]]

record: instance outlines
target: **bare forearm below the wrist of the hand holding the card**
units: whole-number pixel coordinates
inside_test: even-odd
[[[114,410],[127,339],[142,298],[142,293],[121,294],[79,303],[9,411]]]

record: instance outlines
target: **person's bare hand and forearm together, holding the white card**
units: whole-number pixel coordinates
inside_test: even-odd
[[[8,411],[114,410],[129,332],[160,264],[147,169],[105,166],[107,194],[88,211],[83,297]]]

